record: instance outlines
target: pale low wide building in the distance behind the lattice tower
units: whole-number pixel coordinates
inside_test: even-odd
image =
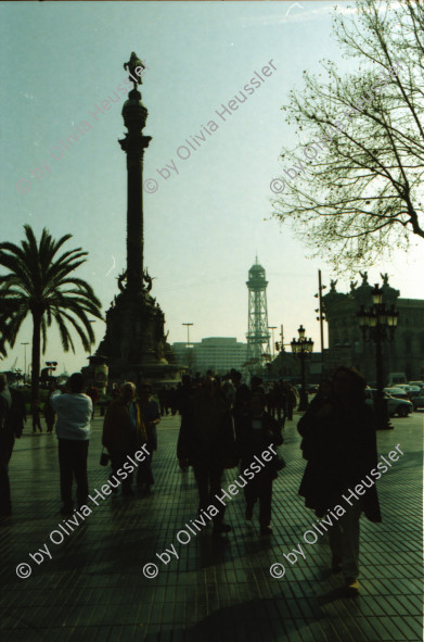
[[[217,375],[224,375],[231,368],[242,369],[246,362],[247,343],[240,343],[233,337],[208,337],[201,343],[172,343],[174,354],[179,364],[188,364],[192,372],[202,375],[206,370],[214,370]]]

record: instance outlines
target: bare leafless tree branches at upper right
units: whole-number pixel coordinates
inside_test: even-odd
[[[338,272],[424,238],[424,7],[356,7],[355,17],[335,11],[334,32],[359,67],[342,77],[322,61],[325,80],[304,72],[305,89],[283,106],[303,142],[283,150],[282,179],[271,182],[282,194],[274,216]]]

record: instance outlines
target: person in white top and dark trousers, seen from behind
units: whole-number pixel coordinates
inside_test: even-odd
[[[80,373],[72,375],[65,391],[55,390],[50,403],[57,413],[56,435],[59,440],[59,465],[61,469],[62,515],[74,509],[73,479],[77,483],[78,508],[87,504],[87,455],[91,436],[91,399],[83,394],[85,380]]]

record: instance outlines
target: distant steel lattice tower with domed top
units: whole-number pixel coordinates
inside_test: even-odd
[[[270,354],[267,309],[267,286],[265,269],[256,263],[248,270],[248,330],[247,330],[247,363],[249,369],[259,369],[262,365],[262,354]],[[265,344],[265,345],[264,345]]]

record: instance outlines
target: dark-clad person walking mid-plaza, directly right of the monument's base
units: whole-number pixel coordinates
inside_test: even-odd
[[[214,505],[215,511],[210,512],[214,534],[230,532],[231,526],[223,523],[226,506],[215,495],[221,495],[223,470],[235,455],[234,433],[230,406],[210,375],[205,377],[191,403],[187,420],[181,424],[179,448],[188,464],[193,466],[198,489],[198,514]]]

